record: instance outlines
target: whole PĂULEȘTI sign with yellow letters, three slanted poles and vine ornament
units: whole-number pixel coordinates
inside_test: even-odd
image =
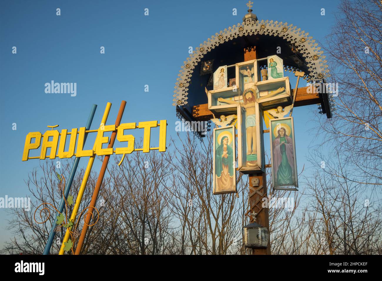
[[[146,122],[139,122],[138,126],[135,122],[133,123],[123,123],[120,124],[121,118],[123,115],[123,112],[125,110],[126,101],[121,102],[120,109],[118,111],[117,118],[115,120],[114,125],[105,125],[107,122],[107,117],[110,112],[112,104],[108,102],[106,104],[106,108],[104,111],[104,115],[102,116],[102,120],[100,122],[100,127],[97,130],[87,130],[90,128],[95,110],[97,108],[96,104],[93,104],[91,112],[89,114],[89,119],[87,120],[86,127],[81,128],[73,128],[71,129],[71,132],[68,132],[68,130],[63,129],[61,130],[61,133],[58,132],[58,130],[53,130],[53,128],[58,127],[58,125],[48,126],[51,130],[45,131],[44,135],[42,135],[40,132],[30,132],[28,135],[26,135],[25,138],[25,144],[24,144],[24,151],[23,151],[23,161],[27,161],[28,159],[55,159],[58,158],[71,158],[73,156],[76,156],[76,159],[74,160],[73,166],[71,168],[71,172],[68,178],[68,181],[66,181],[63,174],[59,175],[57,172],[57,179],[59,180],[58,187],[60,188],[60,192],[62,193],[61,203],[58,206],[58,208],[55,208],[50,203],[42,203],[40,206],[50,205],[55,208],[57,211],[57,215],[54,217],[54,223],[52,225],[52,229],[50,230],[50,234],[48,237],[47,244],[45,245],[44,249],[44,255],[49,254],[50,249],[52,247],[52,243],[55,237],[55,232],[57,228],[64,227],[66,228],[65,236],[62,240],[62,245],[60,248],[59,254],[62,255],[65,253],[65,251],[71,251],[74,254],[73,246],[74,241],[76,238],[78,238],[78,244],[76,247],[76,254],[78,255],[81,251],[84,237],[86,236],[86,232],[89,226],[94,226],[94,224],[90,224],[90,221],[93,217],[93,212],[96,212],[99,214],[96,206],[97,198],[99,195],[99,191],[102,185],[102,181],[104,180],[105,172],[107,169],[107,164],[110,159],[110,155],[113,153],[115,154],[123,154],[123,157],[121,158],[121,161],[119,162],[118,166],[122,164],[123,159],[125,158],[125,154],[132,153],[133,151],[142,151],[142,152],[150,152],[150,150],[159,150],[160,152],[166,151],[166,130],[167,130],[167,120],[160,120],[158,121],[146,121]],[[159,126],[159,146],[158,147],[150,147],[150,136],[151,136],[151,128],[155,128]],[[144,129],[143,131],[143,147],[142,148],[135,148],[134,142],[135,137],[131,134],[125,135],[125,130],[129,129],[136,129],[141,128]],[[95,133],[97,132],[97,136],[94,141],[94,145],[92,149],[84,149],[84,143],[87,138],[88,133]],[[112,132],[110,139],[108,136],[104,136],[105,132]],[[70,135],[69,145],[67,148],[67,151],[65,151],[65,144],[67,136]],[[78,135],[78,138],[77,138]],[[41,140],[42,138],[42,140]],[[60,138],[60,140],[58,140]],[[115,138],[117,138],[118,141],[121,143],[125,142],[125,147],[121,148],[113,148]],[[126,143],[127,142],[127,143]],[[102,148],[103,144],[108,143],[107,148]],[[41,151],[40,156],[33,156],[29,157],[29,151],[38,149],[41,144]],[[76,148],[77,146],[77,148]],[[47,155],[47,149],[50,148],[50,154]],[[76,148],[76,153],[74,153],[74,150]],[[85,188],[87,187],[89,175],[91,173],[95,155],[98,156],[105,156],[102,159],[102,166],[100,169],[100,172],[98,174],[97,182],[94,186],[92,199],[89,203],[89,206],[85,208],[84,210],[80,211],[79,216],[81,217],[84,214],[84,225],[82,226],[81,235],[78,235],[79,237],[76,237],[74,235],[74,231],[79,232],[77,229],[79,219],[76,221],[77,214],[79,212],[79,207],[81,205],[81,200],[83,198]],[[89,160],[87,162],[87,166],[84,172],[83,180],[81,182],[81,186],[78,190],[78,195],[76,198],[76,203],[74,203],[73,211],[71,213],[70,219],[68,219],[68,196],[70,192],[70,188],[74,179],[74,175],[76,173],[76,169],[78,167],[78,163],[81,157],[89,156]],[[59,168],[59,167],[58,167]],[[73,202],[72,202],[73,203]],[[40,207],[38,206],[37,209]],[[69,204],[70,206],[70,204]],[[65,211],[65,223],[63,221],[60,221],[59,218],[62,218],[64,208],[66,208]],[[36,209],[36,211],[37,211]],[[47,209],[44,207],[43,210]],[[35,211],[35,215],[36,215]],[[86,211],[86,213],[85,213]],[[41,216],[41,213],[40,213]],[[50,217],[50,211],[49,211],[49,217]],[[37,223],[45,223],[49,217],[42,222]],[[36,220],[36,219],[35,219]],[[68,248],[68,243],[70,244],[70,247]]]

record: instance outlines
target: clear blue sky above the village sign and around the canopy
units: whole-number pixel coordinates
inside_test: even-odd
[[[317,41],[330,32],[338,5],[337,0],[253,2],[260,20],[291,23]],[[98,108],[92,128],[98,127],[107,102],[113,104],[107,123],[112,124],[121,100],[126,100],[122,123],[167,119],[167,139],[175,136],[173,89],[188,47],[198,47],[212,34],[240,23],[246,3],[2,0],[0,197],[29,196],[24,179],[39,160],[21,161],[27,133],[44,133],[47,125],[55,124],[59,130],[83,127],[93,103]],[[149,16],[144,16],[145,8]],[[233,8],[237,16],[232,15]],[[320,15],[321,8],[325,16]],[[13,46],[17,54],[12,54]],[[105,54],[100,54],[101,46]],[[77,83],[77,95],[46,94],[44,84],[51,80]],[[146,84],[149,92],[144,91]],[[294,88],[295,82],[291,84]],[[293,111],[299,170],[313,140],[307,132],[315,126],[309,122],[314,114],[316,105]],[[17,130],[12,130],[12,123]],[[79,167],[86,163],[80,161]],[[99,166],[96,163],[94,171]],[[0,209],[0,247],[9,240],[6,219]]]

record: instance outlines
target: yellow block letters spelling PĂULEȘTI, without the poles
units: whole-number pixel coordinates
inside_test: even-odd
[[[158,126],[159,126],[159,147],[151,148],[150,147],[151,128],[155,128]],[[157,121],[139,122],[138,126],[136,126],[135,122],[123,123],[119,125],[118,127],[116,127],[115,125],[102,125],[99,127],[98,130],[86,130],[85,127],[81,127],[79,128],[79,130],[78,128],[73,128],[71,132],[68,132],[68,130],[63,129],[61,130],[61,133],[59,133],[58,130],[53,130],[53,127],[57,127],[57,125],[48,126],[48,127],[52,128],[52,130],[47,130],[44,133],[44,135],[42,135],[40,132],[30,132],[28,133],[28,135],[26,135],[24,152],[23,152],[23,161],[27,161],[28,159],[45,159],[47,157],[49,157],[49,159],[55,159],[56,157],[71,158],[74,155],[76,157],[94,156],[94,154],[101,156],[101,155],[111,155],[113,153],[123,154],[123,157],[124,157],[125,154],[132,153],[133,151],[149,152],[150,150],[154,150],[154,149],[158,149],[160,152],[166,151],[167,120],[160,120],[159,123],[157,123]],[[135,129],[135,128],[144,129],[143,148],[135,148],[134,136],[124,134],[125,130]],[[117,131],[117,140],[120,142],[127,141],[128,145],[123,148],[115,148],[115,150],[113,150],[113,148],[102,148],[102,144],[109,142],[109,138],[107,136],[104,136],[104,133],[115,132],[115,131]],[[84,150],[83,148],[84,148],[85,134],[92,133],[92,132],[97,132],[97,137],[95,139],[93,149]],[[77,134],[78,134],[78,140],[77,140]],[[68,151],[64,151],[67,135],[70,135],[70,143],[69,143]],[[58,136],[61,136],[60,142],[58,142]],[[49,140],[49,137],[52,137],[52,140]],[[42,140],[40,156],[29,157],[29,151],[31,151],[32,149],[38,149],[40,147],[41,138],[43,138],[43,140]],[[32,141],[33,139],[35,140]],[[74,153],[76,142],[77,142],[77,150],[76,150],[76,153]],[[58,146],[58,152],[57,152],[57,146]],[[47,148],[50,148],[49,156],[46,155]]]

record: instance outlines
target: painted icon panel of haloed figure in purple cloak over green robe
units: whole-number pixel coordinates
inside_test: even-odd
[[[298,187],[293,117],[269,121],[272,187]]]

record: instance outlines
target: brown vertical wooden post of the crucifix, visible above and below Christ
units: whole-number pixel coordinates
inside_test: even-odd
[[[254,60],[257,59],[256,54],[256,46],[248,47],[244,49],[244,61],[248,60]],[[255,70],[257,71],[257,70]],[[262,116],[260,117],[260,122],[262,122]],[[264,133],[261,132],[260,138],[264,139]],[[264,141],[261,142],[262,145],[264,145]],[[257,151],[264,151],[262,148],[257,148]],[[251,179],[257,178],[259,179],[259,186],[258,187],[252,187],[251,185]],[[269,213],[268,208],[262,208],[263,201],[261,200],[263,197],[267,197],[267,177],[265,172],[264,173],[257,173],[257,174],[250,174],[249,175],[249,189],[248,189],[248,195],[249,195],[249,208],[251,211],[250,213],[250,223],[254,222],[253,214],[257,213],[256,215],[256,223],[260,224],[263,227],[267,227],[269,232]],[[252,195],[252,196],[251,196]],[[253,249],[252,250],[253,255],[270,255],[270,239],[268,241],[268,247],[265,249]]]

